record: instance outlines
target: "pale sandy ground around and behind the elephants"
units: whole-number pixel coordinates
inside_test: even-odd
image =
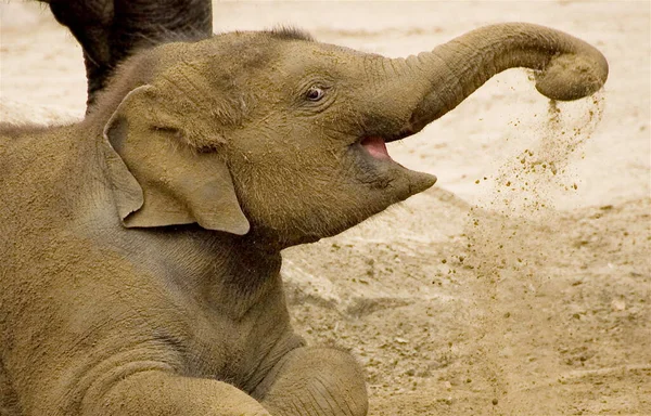
[[[406,56],[524,21],[597,46],[610,79],[553,105],[494,77],[390,152],[436,187],[285,253],[297,329],[353,351],[371,415],[651,415],[648,1],[216,2],[216,30],[294,24]],[[0,3],[2,120],[81,117],[81,52],[47,10]]]

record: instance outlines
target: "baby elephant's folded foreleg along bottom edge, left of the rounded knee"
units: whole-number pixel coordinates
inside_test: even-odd
[[[226,382],[145,370],[107,391],[91,389],[82,405],[92,416],[270,416],[255,399]]]

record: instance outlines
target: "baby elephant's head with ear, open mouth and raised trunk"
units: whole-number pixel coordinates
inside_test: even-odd
[[[131,60],[87,120],[111,145],[126,226],[199,223],[277,247],[340,233],[432,186],[385,143],[452,109],[493,75],[537,70],[554,100],[600,89],[608,64],[566,34],[501,24],[387,58],[297,30],[169,43]]]

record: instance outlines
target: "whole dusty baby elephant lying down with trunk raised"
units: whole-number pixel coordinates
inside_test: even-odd
[[[77,125],[4,126],[0,414],[365,415],[356,361],[292,330],[280,251],[432,186],[385,143],[514,66],[557,100],[608,75],[527,24],[406,60],[233,32],[135,55]]]

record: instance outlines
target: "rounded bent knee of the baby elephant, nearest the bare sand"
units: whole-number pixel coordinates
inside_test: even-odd
[[[365,377],[348,353],[298,348],[281,360],[253,392],[273,416],[363,416]]]

